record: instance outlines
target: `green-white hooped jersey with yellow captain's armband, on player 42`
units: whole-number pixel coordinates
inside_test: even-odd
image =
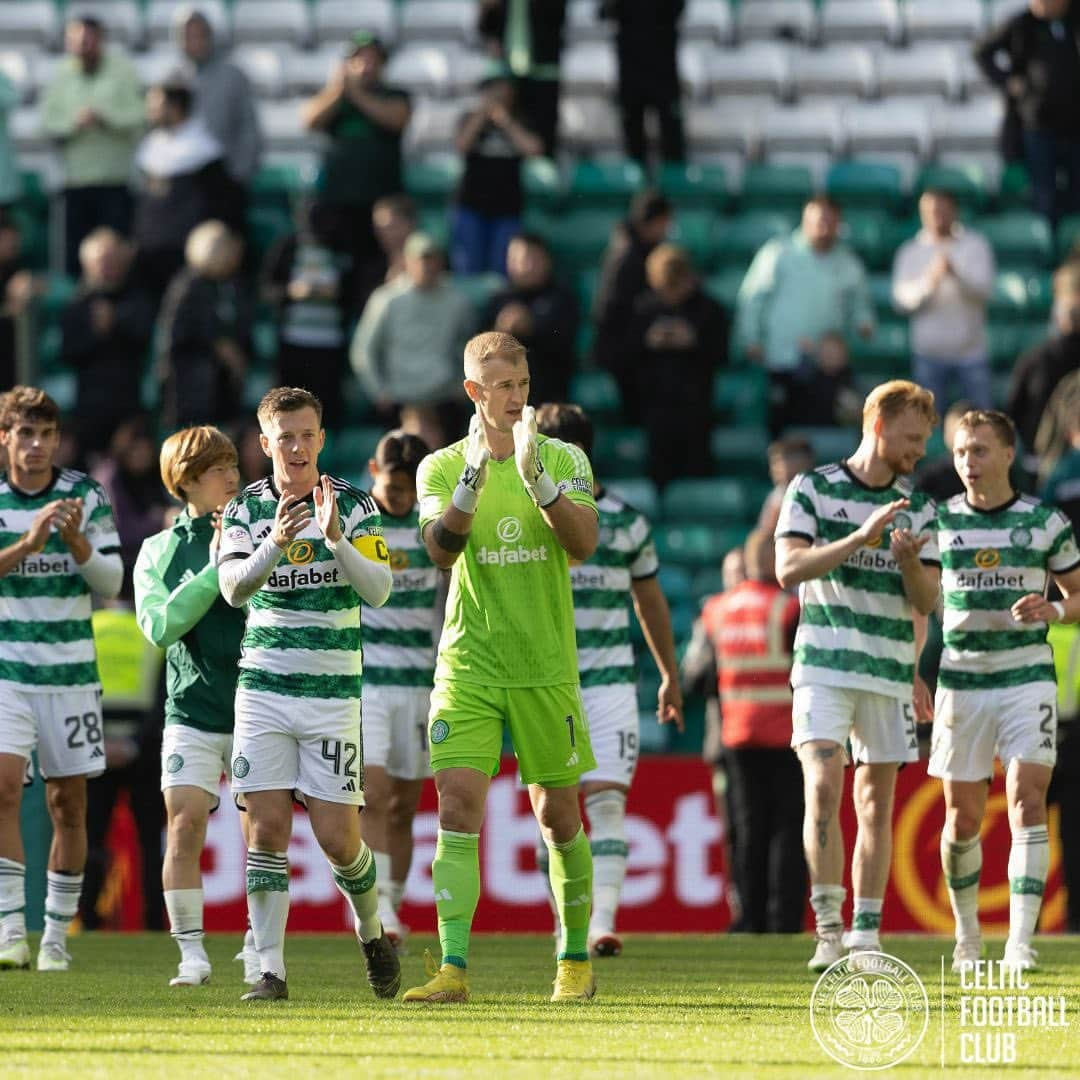
[[[332,478],[342,535],[362,555],[386,565],[374,500]],[[245,487],[225,508],[218,565],[247,558],[270,536],[280,497],[267,478]],[[362,666],[360,596],[312,514],[247,602],[238,687],[288,698],[360,698]]]

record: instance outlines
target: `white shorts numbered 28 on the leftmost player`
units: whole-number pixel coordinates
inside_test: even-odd
[[[100,691],[0,691],[0,753],[29,761],[35,750],[43,780],[105,772]]]

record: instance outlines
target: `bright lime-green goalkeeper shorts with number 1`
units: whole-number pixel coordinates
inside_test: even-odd
[[[568,787],[596,768],[577,683],[498,687],[436,679],[428,716],[432,770],[494,777],[504,725],[526,784]]]

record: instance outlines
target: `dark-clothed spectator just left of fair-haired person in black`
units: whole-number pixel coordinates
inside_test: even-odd
[[[625,221],[611,233],[599,281],[593,295],[593,322],[596,341],[593,362],[605,367],[623,388],[623,411],[633,423],[640,420],[633,375],[623,353],[626,326],[633,318],[634,303],[649,284],[645,278],[645,260],[672,226],[674,210],[659,191],[640,191],[630,204]]]

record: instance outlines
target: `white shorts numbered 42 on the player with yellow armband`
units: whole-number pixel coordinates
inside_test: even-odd
[[[232,792],[364,805],[360,701],[237,691]],[[241,800],[242,801],[242,800]]]

